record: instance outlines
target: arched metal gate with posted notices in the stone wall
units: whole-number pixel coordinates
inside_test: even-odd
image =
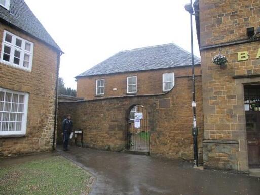
[[[142,113],[139,124],[135,124],[136,113]],[[138,122],[138,120],[137,120]],[[136,128],[139,126],[139,128]],[[137,105],[132,108],[128,117],[127,149],[149,152],[150,150],[150,130],[148,124],[148,114],[144,106]]]

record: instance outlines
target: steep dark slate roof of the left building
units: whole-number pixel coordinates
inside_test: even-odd
[[[0,6],[0,18],[61,51],[24,0],[11,0],[9,10]]]

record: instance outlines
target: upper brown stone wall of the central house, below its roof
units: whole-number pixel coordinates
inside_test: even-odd
[[[77,81],[77,97],[86,100],[100,97],[127,95],[127,76],[137,76],[137,94],[158,94],[163,92],[163,73],[174,72],[175,77],[191,74],[191,67],[169,68],[162,70],[117,73],[110,75],[80,77]],[[196,66],[196,75],[200,75],[200,66]],[[105,94],[96,96],[96,79],[105,79]],[[113,90],[117,88],[117,90]]]

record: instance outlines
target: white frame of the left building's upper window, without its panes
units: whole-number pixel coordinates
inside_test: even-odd
[[[7,42],[5,40],[6,38],[6,35],[9,34],[12,36],[12,42]],[[16,39],[20,39],[22,41],[22,46],[19,47],[19,46],[16,46],[15,44],[15,41]],[[30,48],[30,51],[27,51],[25,50],[25,44],[28,43],[31,45],[31,48]],[[5,46],[8,46],[11,48],[11,52],[10,52],[10,61],[6,61],[4,60],[4,47]],[[19,65],[17,64],[14,64],[14,53],[15,53],[15,50],[19,51],[20,52],[20,62],[19,62]],[[24,62],[24,55],[29,55],[29,66],[28,67],[24,67],[23,66],[23,62]],[[23,70],[27,70],[27,71],[30,71],[31,72],[31,67],[32,67],[32,59],[33,59],[33,43],[32,42],[29,42],[19,36],[16,36],[15,34],[11,33],[11,32],[8,32],[6,30],[4,30],[4,34],[3,34],[3,42],[2,42],[2,52],[1,52],[1,59],[0,59],[0,62],[4,63],[4,64],[7,64],[7,65],[10,65],[10,66],[13,66],[13,67],[16,67],[16,68],[20,68],[20,69],[23,69]]]

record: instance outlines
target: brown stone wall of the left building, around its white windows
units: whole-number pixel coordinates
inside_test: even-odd
[[[0,50],[4,29],[33,42],[32,71],[0,63],[0,87],[29,93],[27,128],[23,137],[0,137],[0,156],[52,149],[57,55],[43,42],[0,24]],[[2,51],[1,51],[2,52]]]

